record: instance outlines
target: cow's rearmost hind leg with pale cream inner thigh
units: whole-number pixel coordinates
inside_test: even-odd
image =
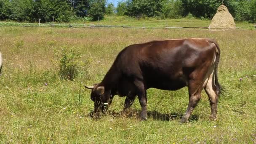
[[[207,93],[207,95],[209,97],[209,101],[210,101],[211,118],[213,118],[213,120],[216,120],[219,96],[216,94],[216,91],[214,91],[214,89],[216,89],[216,88],[213,83],[213,72],[212,72],[209,77],[209,80],[205,86],[205,92]]]

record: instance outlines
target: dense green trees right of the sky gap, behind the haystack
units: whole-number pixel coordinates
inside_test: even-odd
[[[117,5],[118,15],[161,16],[176,19],[189,13],[197,18],[211,19],[222,0],[126,0]],[[236,21],[256,20],[256,0],[224,0]]]

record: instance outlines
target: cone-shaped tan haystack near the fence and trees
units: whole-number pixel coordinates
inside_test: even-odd
[[[235,29],[235,21],[225,5],[220,5],[210,24],[211,30]]]

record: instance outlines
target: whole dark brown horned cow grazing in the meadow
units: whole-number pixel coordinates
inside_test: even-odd
[[[175,91],[189,88],[189,104],[181,122],[187,122],[203,88],[208,94],[211,117],[216,119],[221,87],[217,69],[219,45],[209,38],[158,40],[124,48],[115,59],[104,79],[91,89],[94,112],[107,110],[113,97],[126,96],[124,110],[136,96],[141,105],[141,119],[147,120],[147,89]]]

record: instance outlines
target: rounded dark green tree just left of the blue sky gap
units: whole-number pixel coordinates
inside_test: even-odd
[[[91,0],[88,15],[92,17],[93,21],[104,18],[106,0]]]

